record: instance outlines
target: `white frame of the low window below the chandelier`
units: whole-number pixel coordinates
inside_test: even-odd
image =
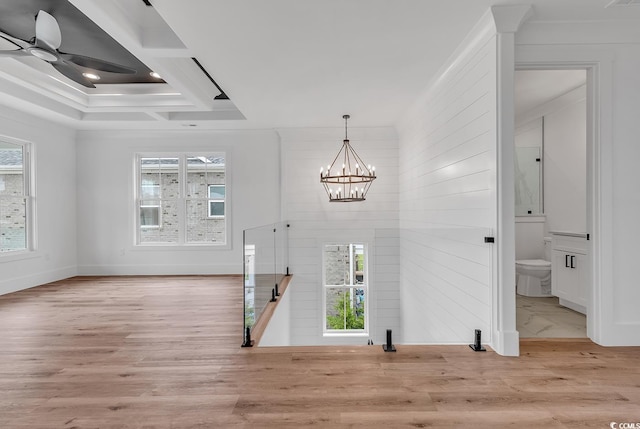
[[[362,284],[355,284],[354,279],[350,279],[350,284],[348,285],[328,285],[326,281],[326,254],[325,248],[327,246],[349,246],[349,255],[351,255],[351,246],[354,245],[362,245],[363,246],[363,254],[364,254],[364,269],[363,269],[363,282]],[[355,263],[355,261],[350,260],[350,265]],[[369,326],[371,320],[371,288],[369,284],[369,244],[365,241],[361,240],[344,240],[343,242],[330,242],[322,244],[322,333],[325,337],[348,337],[348,336],[369,336]],[[353,269],[350,268],[349,272],[353,272]],[[364,289],[365,300],[364,300],[364,329],[327,329],[327,289],[335,289],[335,288],[343,288],[345,290],[350,288],[358,288]]]

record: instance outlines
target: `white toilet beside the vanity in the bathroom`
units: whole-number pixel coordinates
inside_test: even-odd
[[[546,259],[516,261],[516,292],[531,297],[551,296],[551,238],[544,238]]]

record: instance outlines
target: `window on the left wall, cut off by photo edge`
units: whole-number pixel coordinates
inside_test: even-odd
[[[0,140],[0,252],[32,250],[29,145]]]

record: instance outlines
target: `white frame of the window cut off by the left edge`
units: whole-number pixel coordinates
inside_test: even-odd
[[[22,147],[22,179],[23,189],[21,198],[25,201],[25,247],[24,249],[4,250],[0,248],[0,258],[8,259],[36,251],[36,201],[35,201],[35,161],[34,148],[31,142],[9,136],[0,135],[0,141]],[[1,196],[16,198],[16,196]]]

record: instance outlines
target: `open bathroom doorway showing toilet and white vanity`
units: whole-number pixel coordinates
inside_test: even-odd
[[[515,75],[516,329],[587,337],[586,69]],[[566,262],[566,263],[565,263]]]

